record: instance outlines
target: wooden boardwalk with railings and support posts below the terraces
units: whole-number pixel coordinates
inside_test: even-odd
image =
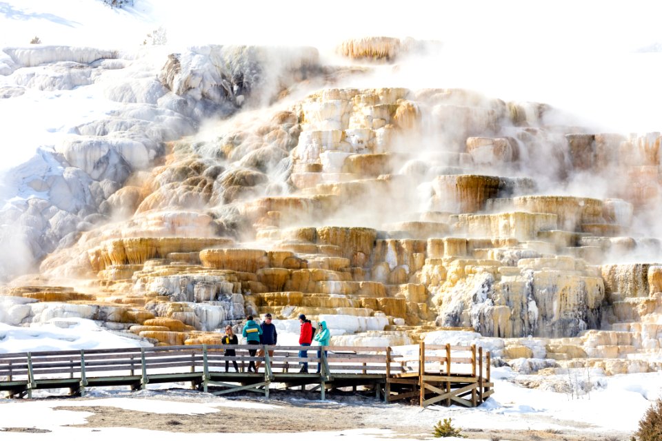
[[[41,351],[0,354],[0,391],[10,398],[32,397],[36,389],[68,389],[83,396],[93,387],[190,382],[193,389],[216,395],[260,393],[275,389],[319,391],[324,400],[339,391],[368,390],[375,398],[475,407],[494,392],[490,353],[475,346],[420,345],[398,347],[265,347],[263,357],[251,357],[256,346],[198,345],[81,351]],[[225,349],[235,349],[228,356]],[[299,358],[308,350],[308,358]],[[270,351],[271,354],[270,354]],[[261,362],[258,373],[249,362]],[[310,373],[300,373],[300,362]],[[225,371],[226,362],[229,371]],[[234,371],[237,362],[239,371]],[[319,363],[320,372],[315,373]]]

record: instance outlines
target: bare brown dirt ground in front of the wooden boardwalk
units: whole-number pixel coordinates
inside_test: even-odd
[[[216,413],[180,414],[150,413],[117,407],[94,405],[93,398],[68,398],[62,406],[54,409],[86,411],[93,413],[83,425],[72,427],[128,427],[177,433],[288,433],[308,431],[340,431],[347,429],[390,429],[389,438],[430,439],[434,424],[447,418],[446,408],[421,409],[409,404],[384,404],[372,397],[352,397],[350,400],[319,401],[311,397],[292,398],[273,394],[268,400],[254,396],[235,396],[230,398],[237,406],[214,406],[214,402],[205,401],[210,394],[183,394],[159,396],[159,400],[183,402],[203,402],[219,409]],[[144,397],[141,397],[144,398]],[[147,397],[149,398],[149,397]],[[151,399],[151,398],[150,398]],[[156,399],[156,398],[154,398]],[[67,406],[68,400],[76,405]],[[81,406],[81,400],[89,402]],[[270,405],[270,409],[247,409],[243,403]],[[73,404],[73,403],[72,403]],[[469,410],[468,410],[469,411]],[[533,417],[532,426],[543,422],[544,416]],[[519,424],[521,426],[521,424]],[[563,430],[486,430],[472,427],[459,427],[462,435],[468,439],[512,440],[512,441],[629,441],[628,433],[601,433],[581,422],[572,422]],[[0,431],[27,432],[39,431],[34,428],[0,429]]]

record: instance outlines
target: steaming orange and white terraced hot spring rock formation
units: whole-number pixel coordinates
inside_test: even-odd
[[[332,345],[464,338],[514,369],[660,369],[660,134],[372,76],[434,47],[345,41],[324,65],[314,48],[211,45],[114,85],[126,110],[35,158],[60,166],[0,212],[28,256],[3,264],[0,321],[199,345],[248,314],[296,334],[305,314]],[[89,81],[137,63],[60,56]]]

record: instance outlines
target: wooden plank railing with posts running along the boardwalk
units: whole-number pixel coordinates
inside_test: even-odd
[[[412,349],[417,347],[418,353],[414,354]],[[288,370],[299,362],[308,362],[319,363],[321,372],[305,375],[317,376],[322,383],[334,378],[362,375],[362,378],[392,378],[394,381],[401,378],[396,382],[402,384],[408,384],[412,380],[407,378],[415,376],[423,384],[430,376],[438,376],[443,378],[443,385],[440,387],[448,393],[452,376],[456,376],[476,378],[477,384],[480,385],[478,399],[481,402],[484,398],[483,391],[485,397],[492,393],[490,351],[483,351],[482,347],[476,345],[425,345],[423,342],[401,347],[265,345],[264,356],[250,356],[248,349],[255,348],[254,345],[179,345],[4,353],[0,354],[0,390],[14,390],[18,387],[16,384],[24,382],[29,393],[32,389],[52,386],[65,379],[77,382],[81,393],[85,387],[99,384],[103,379],[108,382],[111,379],[126,381],[123,384],[144,389],[150,381],[165,382],[164,379],[174,375],[189,378],[192,382],[201,382],[206,387],[208,382],[219,379],[225,382],[233,381],[232,378],[235,377],[224,376],[225,362],[260,361],[263,362],[263,382],[267,385],[277,381],[278,376],[298,376],[299,373],[288,373]],[[235,355],[226,355],[227,349],[234,349]],[[300,358],[301,350],[308,351],[308,357]],[[320,352],[319,357],[317,351]],[[139,373],[135,372],[137,367],[140,367]],[[254,374],[239,372],[238,375]],[[117,380],[119,378],[123,380]],[[268,389],[268,386],[264,387]],[[434,387],[428,389],[432,390]],[[385,398],[390,396],[391,391],[388,381],[385,382]],[[265,394],[267,393],[268,391],[265,391]],[[421,388],[421,400],[424,397],[425,388]]]

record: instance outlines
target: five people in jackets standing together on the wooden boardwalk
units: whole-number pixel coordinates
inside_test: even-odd
[[[264,356],[264,345],[268,346],[275,346],[278,343],[278,333],[276,331],[276,325],[272,323],[272,316],[271,314],[265,314],[263,322],[258,325],[258,323],[253,319],[253,316],[248,316],[246,321],[246,324],[244,325],[242,331],[241,331],[241,336],[246,339],[246,344],[247,345],[254,345],[256,346],[255,349],[248,349],[248,355],[251,357],[258,356],[258,357],[263,357]],[[319,346],[328,346],[329,341],[331,339],[331,333],[329,329],[326,327],[326,322],[321,321],[317,324],[317,332],[313,333],[312,331],[312,323],[310,320],[305,318],[304,314],[299,315],[299,322],[301,323],[301,331],[299,333],[299,345],[301,346],[310,346],[313,341],[316,341],[319,343]],[[313,337],[314,334],[314,337]],[[232,329],[232,326],[228,325],[225,327],[225,336],[221,339],[221,343],[223,345],[237,345],[239,344],[239,339],[237,338],[237,335],[234,334],[234,330]],[[260,346],[261,347],[257,347]],[[269,356],[274,355],[274,351],[270,349],[269,351]],[[321,349],[317,351],[317,358],[318,360],[321,358]],[[326,356],[327,351],[324,351],[324,355]],[[225,355],[229,357],[234,357],[237,355],[237,353],[234,351],[234,349],[225,349]],[[308,350],[301,350],[299,351],[299,358],[308,358]],[[299,362],[301,365],[301,370],[299,372],[303,373],[308,373],[308,362]],[[232,360],[232,365],[234,366],[234,370],[239,372],[239,367],[237,366],[237,361]],[[257,372],[257,369],[260,368],[261,361],[253,362],[250,361],[248,363],[248,371],[249,372]],[[228,371],[228,368],[230,367],[230,360],[225,360],[225,372]],[[321,363],[317,363],[317,373],[320,373],[321,371]]]

